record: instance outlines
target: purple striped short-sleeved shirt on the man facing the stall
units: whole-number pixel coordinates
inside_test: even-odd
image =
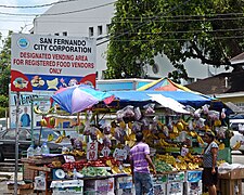
[[[133,160],[133,171],[150,173],[149,162],[145,155],[150,154],[150,147],[146,143],[139,142],[130,150],[130,159]]]

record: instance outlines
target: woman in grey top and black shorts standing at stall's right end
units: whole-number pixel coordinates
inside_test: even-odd
[[[218,144],[215,142],[215,134],[211,131],[207,131],[204,138],[207,146],[203,153],[203,184],[208,188],[209,195],[217,195],[216,185],[218,182]]]

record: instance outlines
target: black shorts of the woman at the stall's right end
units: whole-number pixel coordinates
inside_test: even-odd
[[[211,168],[204,168],[203,170],[203,184],[204,186],[211,186],[211,185],[217,185],[218,183],[218,168],[215,168],[216,173],[211,173]]]

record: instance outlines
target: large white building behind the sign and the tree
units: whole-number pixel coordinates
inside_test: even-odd
[[[115,12],[115,0],[77,0],[57,3],[51,6],[41,16],[34,21],[34,34],[56,35],[69,37],[93,37],[98,39],[97,67],[98,79],[103,78],[102,70],[106,69],[107,29]],[[167,77],[174,70],[166,56],[155,57],[157,67],[146,67],[149,77]],[[184,63],[191,81],[203,79],[223,72],[223,68],[215,69],[213,66],[201,65],[198,60],[189,60]]]

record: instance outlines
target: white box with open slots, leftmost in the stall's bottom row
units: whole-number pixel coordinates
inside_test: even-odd
[[[64,180],[52,181],[50,187],[53,194],[82,194],[84,181],[82,180]]]

